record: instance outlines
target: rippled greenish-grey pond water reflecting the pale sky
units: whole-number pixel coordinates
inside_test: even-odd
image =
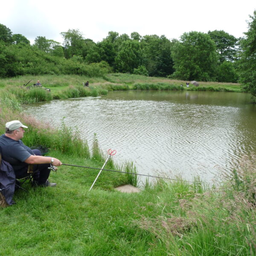
[[[96,133],[104,152],[117,151],[116,163],[133,161],[142,174],[211,181],[242,155],[256,154],[256,105],[245,93],[121,91],[25,110],[54,127],[65,117],[90,148]]]

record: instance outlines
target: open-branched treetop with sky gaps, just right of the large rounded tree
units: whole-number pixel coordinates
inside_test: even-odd
[[[223,30],[209,31],[208,35],[215,41],[220,62],[234,61],[238,39]]]

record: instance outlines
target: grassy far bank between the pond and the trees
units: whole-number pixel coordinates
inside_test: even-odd
[[[38,79],[43,87],[49,88],[51,92],[41,88],[27,89],[23,86],[33,85]],[[89,87],[84,87],[83,83],[89,81]],[[85,76],[22,76],[12,79],[0,80],[0,93],[11,93],[20,100],[21,103],[43,102],[52,99],[68,99],[85,96],[105,95],[113,90],[202,90],[202,91],[225,91],[241,92],[240,84],[199,82],[195,87],[190,84],[187,88],[186,81],[171,80],[167,78],[155,78],[129,74],[108,74],[104,78],[88,78]],[[183,86],[181,86],[181,84]]]

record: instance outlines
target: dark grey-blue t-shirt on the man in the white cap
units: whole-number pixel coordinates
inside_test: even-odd
[[[3,160],[9,162],[15,171],[26,166],[24,161],[33,154],[33,151],[21,140],[13,140],[5,134],[0,136],[0,149]]]

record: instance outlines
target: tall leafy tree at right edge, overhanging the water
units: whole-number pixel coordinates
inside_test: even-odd
[[[241,39],[240,82],[246,92],[256,96],[256,10],[248,21],[248,31]]]

